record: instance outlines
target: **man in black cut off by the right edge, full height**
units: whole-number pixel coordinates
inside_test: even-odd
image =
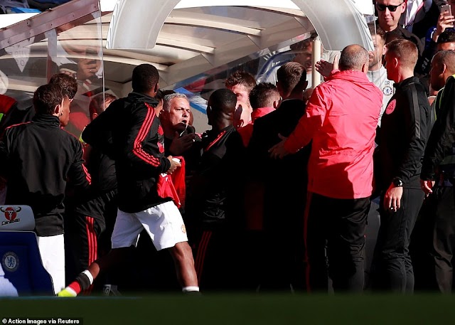
[[[441,50],[434,55],[430,80],[434,90],[439,90],[436,100],[437,120],[425,149],[422,189],[429,195],[426,211],[434,220],[432,228],[432,275],[437,289],[450,293],[454,267],[452,257],[455,243],[455,51]],[[434,186],[434,188],[433,188]],[[431,194],[431,195],[430,195]],[[436,289],[436,288],[435,288]]]

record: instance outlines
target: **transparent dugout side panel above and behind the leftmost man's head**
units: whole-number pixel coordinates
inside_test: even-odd
[[[28,113],[34,113],[32,98],[36,88],[55,73],[71,75],[77,78],[78,89],[65,129],[80,137],[90,122],[90,100],[104,90],[100,17],[100,11],[95,11],[74,21],[60,18],[58,27],[0,50],[0,99],[4,100],[0,105],[7,103],[0,110],[5,112],[17,102],[21,116],[16,122],[28,121]],[[36,26],[35,31],[41,27]],[[29,32],[33,35],[32,29]]]

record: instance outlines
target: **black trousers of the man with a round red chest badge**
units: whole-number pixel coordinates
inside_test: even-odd
[[[380,228],[373,261],[373,287],[394,292],[414,292],[410,239],[424,201],[420,188],[403,188],[398,211],[385,211],[380,203]]]

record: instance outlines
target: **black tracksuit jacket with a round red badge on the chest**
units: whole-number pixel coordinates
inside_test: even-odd
[[[395,95],[382,115],[377,137],[379,161],[375,163],[380,166],[375,169],[380,169],[380,175],[375,176],[382,190],[387,190],[394,177],[402,179],[405,188],[420,188],[422,159],[431,127],[430,114],[427,95],[419,78],[395,83]]]

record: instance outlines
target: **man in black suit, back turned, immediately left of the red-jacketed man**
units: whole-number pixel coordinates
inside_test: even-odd
[[[283,101],[277,110],[255,121],[248,145],[250,166],[255,166],[250,176],[264,185],[262,260],[267,265],[260,268],[262,289],[304,289],[303,220],[310,149],[284,159],[270,158],[268,150],[289,136],[304,115],[302,97],[307,84],[300,63],[279,68],[277,87]]]

